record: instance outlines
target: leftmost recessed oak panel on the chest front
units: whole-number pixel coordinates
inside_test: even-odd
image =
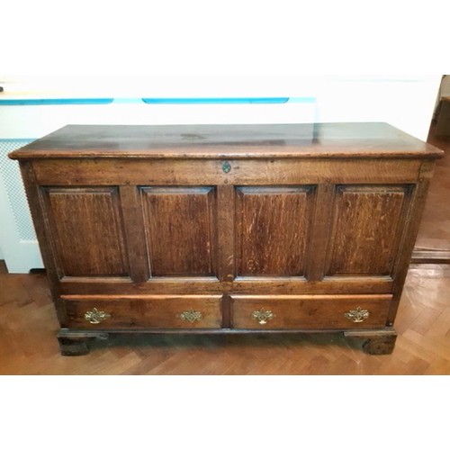
[[[60,275],[128,274],[117,188],[61,187],[43,193]]]

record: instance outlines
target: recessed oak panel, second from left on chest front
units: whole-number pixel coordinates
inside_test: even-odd
[[[212,187],[142,187],[152,276],[216,274]]]

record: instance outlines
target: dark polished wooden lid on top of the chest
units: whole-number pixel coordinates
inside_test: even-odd
[[[142,157],[442,157],[387,123],[67,125],[13,159]]]

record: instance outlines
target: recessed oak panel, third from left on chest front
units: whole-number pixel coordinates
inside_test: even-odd
[[[237,189],[237,275],[303,275],[313,193],[309,186]]]

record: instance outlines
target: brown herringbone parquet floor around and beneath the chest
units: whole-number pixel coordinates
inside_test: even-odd
[[[0,271],[0,374],[450,374],[450,266],[411,266],[389,356],[339,334],[121,335],[60,356],[47,286]]]

